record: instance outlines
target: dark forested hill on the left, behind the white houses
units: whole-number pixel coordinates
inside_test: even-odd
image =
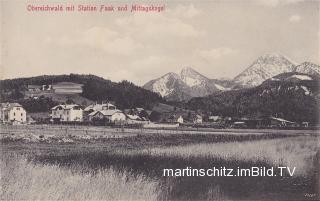
[[[144,107],[152,108],[152,106],[159,102],[165,102],[158,94],[143,89],[134,85],[128,81],[112,82],[105,80],[104,78],[95,75],[44,75],[29,78],[17,78],[7,79],[0,81],[0,97],[1,102],[4,101],[18,101],[28,102],[23,100],[23,92],[27,90],[27,86],[32,85],[43,85],[43,84],[54,84],[57,82],[74,82],[83,84],[83,93],[80,96],[87,98],[92,101],[112,101],[120,109],[132,108],[132,107]],[[43,102],[48,102],[47,105],[54,105],[50,98],[41,99]],[[34,100],[28,105],[35,105],[40,103]],[[49,107],[48,106],[48,107]],[[27,108],[28,109],[28,108]],[[43,110],[43,109],[42,109]]]

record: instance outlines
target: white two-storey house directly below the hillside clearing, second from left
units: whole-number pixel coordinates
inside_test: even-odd
[[[51,109],[51,120],[54,122],[83,121],[82,108],[79,105],[57,105]]]

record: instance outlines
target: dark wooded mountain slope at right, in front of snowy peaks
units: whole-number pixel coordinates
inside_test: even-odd
[[[276,116],[295,122],[319,123],[319,84],[317,75],[282,73],[256,87],[192,98],[185,108],[207,115],[238,118]]]

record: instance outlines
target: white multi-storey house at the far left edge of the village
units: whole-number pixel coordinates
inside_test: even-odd
[[[10,124],[24,124],[27,121],[27,112],[19,103],[1,103],[0,121]]]

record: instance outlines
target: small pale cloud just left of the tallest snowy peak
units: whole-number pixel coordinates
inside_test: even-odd
[[[233,54],[234,49],[228,47],[219,47],[210,50],[197,50],[196,55],[202,57],[205,60],[212,61],[219,59],[223,56]]]

